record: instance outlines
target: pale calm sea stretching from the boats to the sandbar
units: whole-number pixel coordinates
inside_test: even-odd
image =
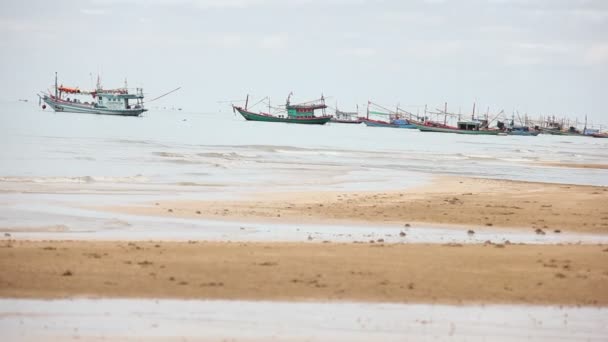
[[[543,162],[608,163],[608,139],[462,136],[364,125],[246,122],[212,114],[127,118],[0,110],[0,186],[7,182],[183,187],[397,189],[450,174],[608,186],[608,170]]]

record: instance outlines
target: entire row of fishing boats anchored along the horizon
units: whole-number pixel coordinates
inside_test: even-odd
[[[608,138],[608,133],[601,133],[599,130],[590,130],[586,127],[583,131],[579,131],[575,127],[563,130],[560,125],[551,125],[547,127],[534,126],[532,128],[527,125],[516,125],[514,117],[508,124],[497,121],[496,127],[490,128],[490,123],[494,120],[489,120],[487,115],[485,118],[480,118],[479,116],[475,118],[475,107],[473,107],[473,115],[470,120],[460,120],[459,116],[459,120],[455,126],[447,123],[447,108],[443,112],[443,123],[429,119],[426,115],[426,110],[425,115],[422,116],[406,111],[399,111],[399,108],[397,108],[397,111],[390,111],[379,106],[383,111],[377,111],[373,110],[372,102],[368,102],[366,115],[364,117],[359,116],[358,111],[344,112],[337,108],[335,108],[334,114],[331,115],[326,112],[328,106],[325,103],[325,98],[323,96],[318,100],[292,104],[292,95],[292,93],[289,94],[284,106],[274,107],[274,111],[273,107],[268,104],[267,112],[253,112],[248,107],[249,95],[247,95],[244,106],[232,104],[232,108],[235,113],[238,112],[249,121],[284,122],[308,125],[323,125],[328,122],[333,122],[341,124],[365,124],[370,127],[417,129],[422,132],[474,135],[536,136],[540,133],[545,133]],[[95,90],[83,91],[79,88],[58,85],[57,74],[55,74],[54,90],[40,93],[38,96],[43,109],[48,105],[56,112],[139,116],[147,111],[147,109],[144,108],[144,95],[141,88],[136,88],[135,93],[129,93],[125,82],[124,88],[104,89],[99,82],[99,78]],[[82,100],[83,96],[85,97],[84,100]],[[253,107],[265,99],[267,98],[258,101]],[[42,104],[42,102],[44,102],[44,104]],[[321,115],[316,114],[316,111],[318,110],[322,111]]]

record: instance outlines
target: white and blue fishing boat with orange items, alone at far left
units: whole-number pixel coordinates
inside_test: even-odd
[[[42,109],[48,105],[55,112],[139,116],[147,111],[142,88],[137,88],[134,94],[129,93],[126,84],[124,88],[103,89],[99,78],[96,89],[86,91],[58,85],[55,73],[54,92],[41,93],[38,97],[44,102]]]

